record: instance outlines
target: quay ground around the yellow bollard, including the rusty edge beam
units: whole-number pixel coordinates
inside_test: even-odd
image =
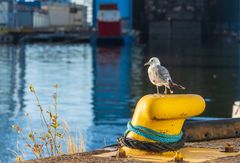
[[[185,123],[186,142],[178,150],[177,160],[174,152],[163,155],[152,152],[151,155],[139,153],[126,156],[119,151],[121,146],[114,144],[91,152],[65,154],[56,158],[29,160],[26,162],[105,162],[105,163],[142,163],[142,162],[204,162],[235,163],[240,160],[239,119],[190,120]],[[224,131],[224,132],[223,132]],[[220,134],[223,133],[223,134]],[[195,135],[195,136],[193,136]],[[190,139],[189,139],[190,138]]]

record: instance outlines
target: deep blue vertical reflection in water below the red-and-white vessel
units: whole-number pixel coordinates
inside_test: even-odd
[[[98,148],[116,143],[131,115],[131,47],[93,47],[93,56],[95,125],[89,133],[96,142],[90,148]]]

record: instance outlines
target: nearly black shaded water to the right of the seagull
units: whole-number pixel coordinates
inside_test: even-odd
[[[150,55],[161,58],[173,79],[187,92],[201,94],[207,102],[202,116],[230,117],[232,104],[239,99],[239,47],[226,40],[206,44],[174,44],[165,48],[150,45]],[[166,48],[169,47],[169,48]]]

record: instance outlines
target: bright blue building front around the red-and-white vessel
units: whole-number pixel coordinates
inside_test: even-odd
[[[115,3],[120,10],[124,28],[132,29],[132,0],[93,0],[93,27],[96,28],[97,13],[100,4]]]

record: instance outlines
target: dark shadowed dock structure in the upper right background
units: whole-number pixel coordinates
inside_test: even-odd
[[[148,43],[166,39],[201,42],[216,34],[237,37],[239,9],[238,0],[134,0],[133,28]]]

